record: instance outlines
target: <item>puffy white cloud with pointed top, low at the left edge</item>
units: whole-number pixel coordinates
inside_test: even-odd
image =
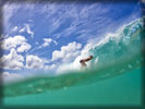
[[[0,68],[8,70],[20,70],[24,66],[24,58],[17,55],[15,49],[11,49],[9,55],[4,55],[0,58]]]

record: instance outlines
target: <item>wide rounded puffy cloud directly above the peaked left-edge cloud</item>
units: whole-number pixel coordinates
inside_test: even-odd
[[[9,37],[3,40],[1,48],[5,50],[11,50],[12,48],[17,48],[19,52],[24,52],[31,49],[31,45],[26,43],[26,38],[24,36],[17,35],[14,37]]]

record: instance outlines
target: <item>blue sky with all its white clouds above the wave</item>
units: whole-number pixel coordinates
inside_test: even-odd
[[[90,41],[141,17],[138,2],[45,2],[3,5],[4,71],[55,71],[81,56]]]

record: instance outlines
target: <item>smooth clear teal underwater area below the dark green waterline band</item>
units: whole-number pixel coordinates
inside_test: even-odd
[[[141,105],[141,70],[123,73],[93,84],[72,86],[41,94],[5,97],[5,106],[105,106]]]

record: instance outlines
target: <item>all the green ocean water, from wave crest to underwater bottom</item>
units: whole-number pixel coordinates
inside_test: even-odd
[[[5,84],[4,105],[141,105],[143,20],[96,43],[87,70]]]

